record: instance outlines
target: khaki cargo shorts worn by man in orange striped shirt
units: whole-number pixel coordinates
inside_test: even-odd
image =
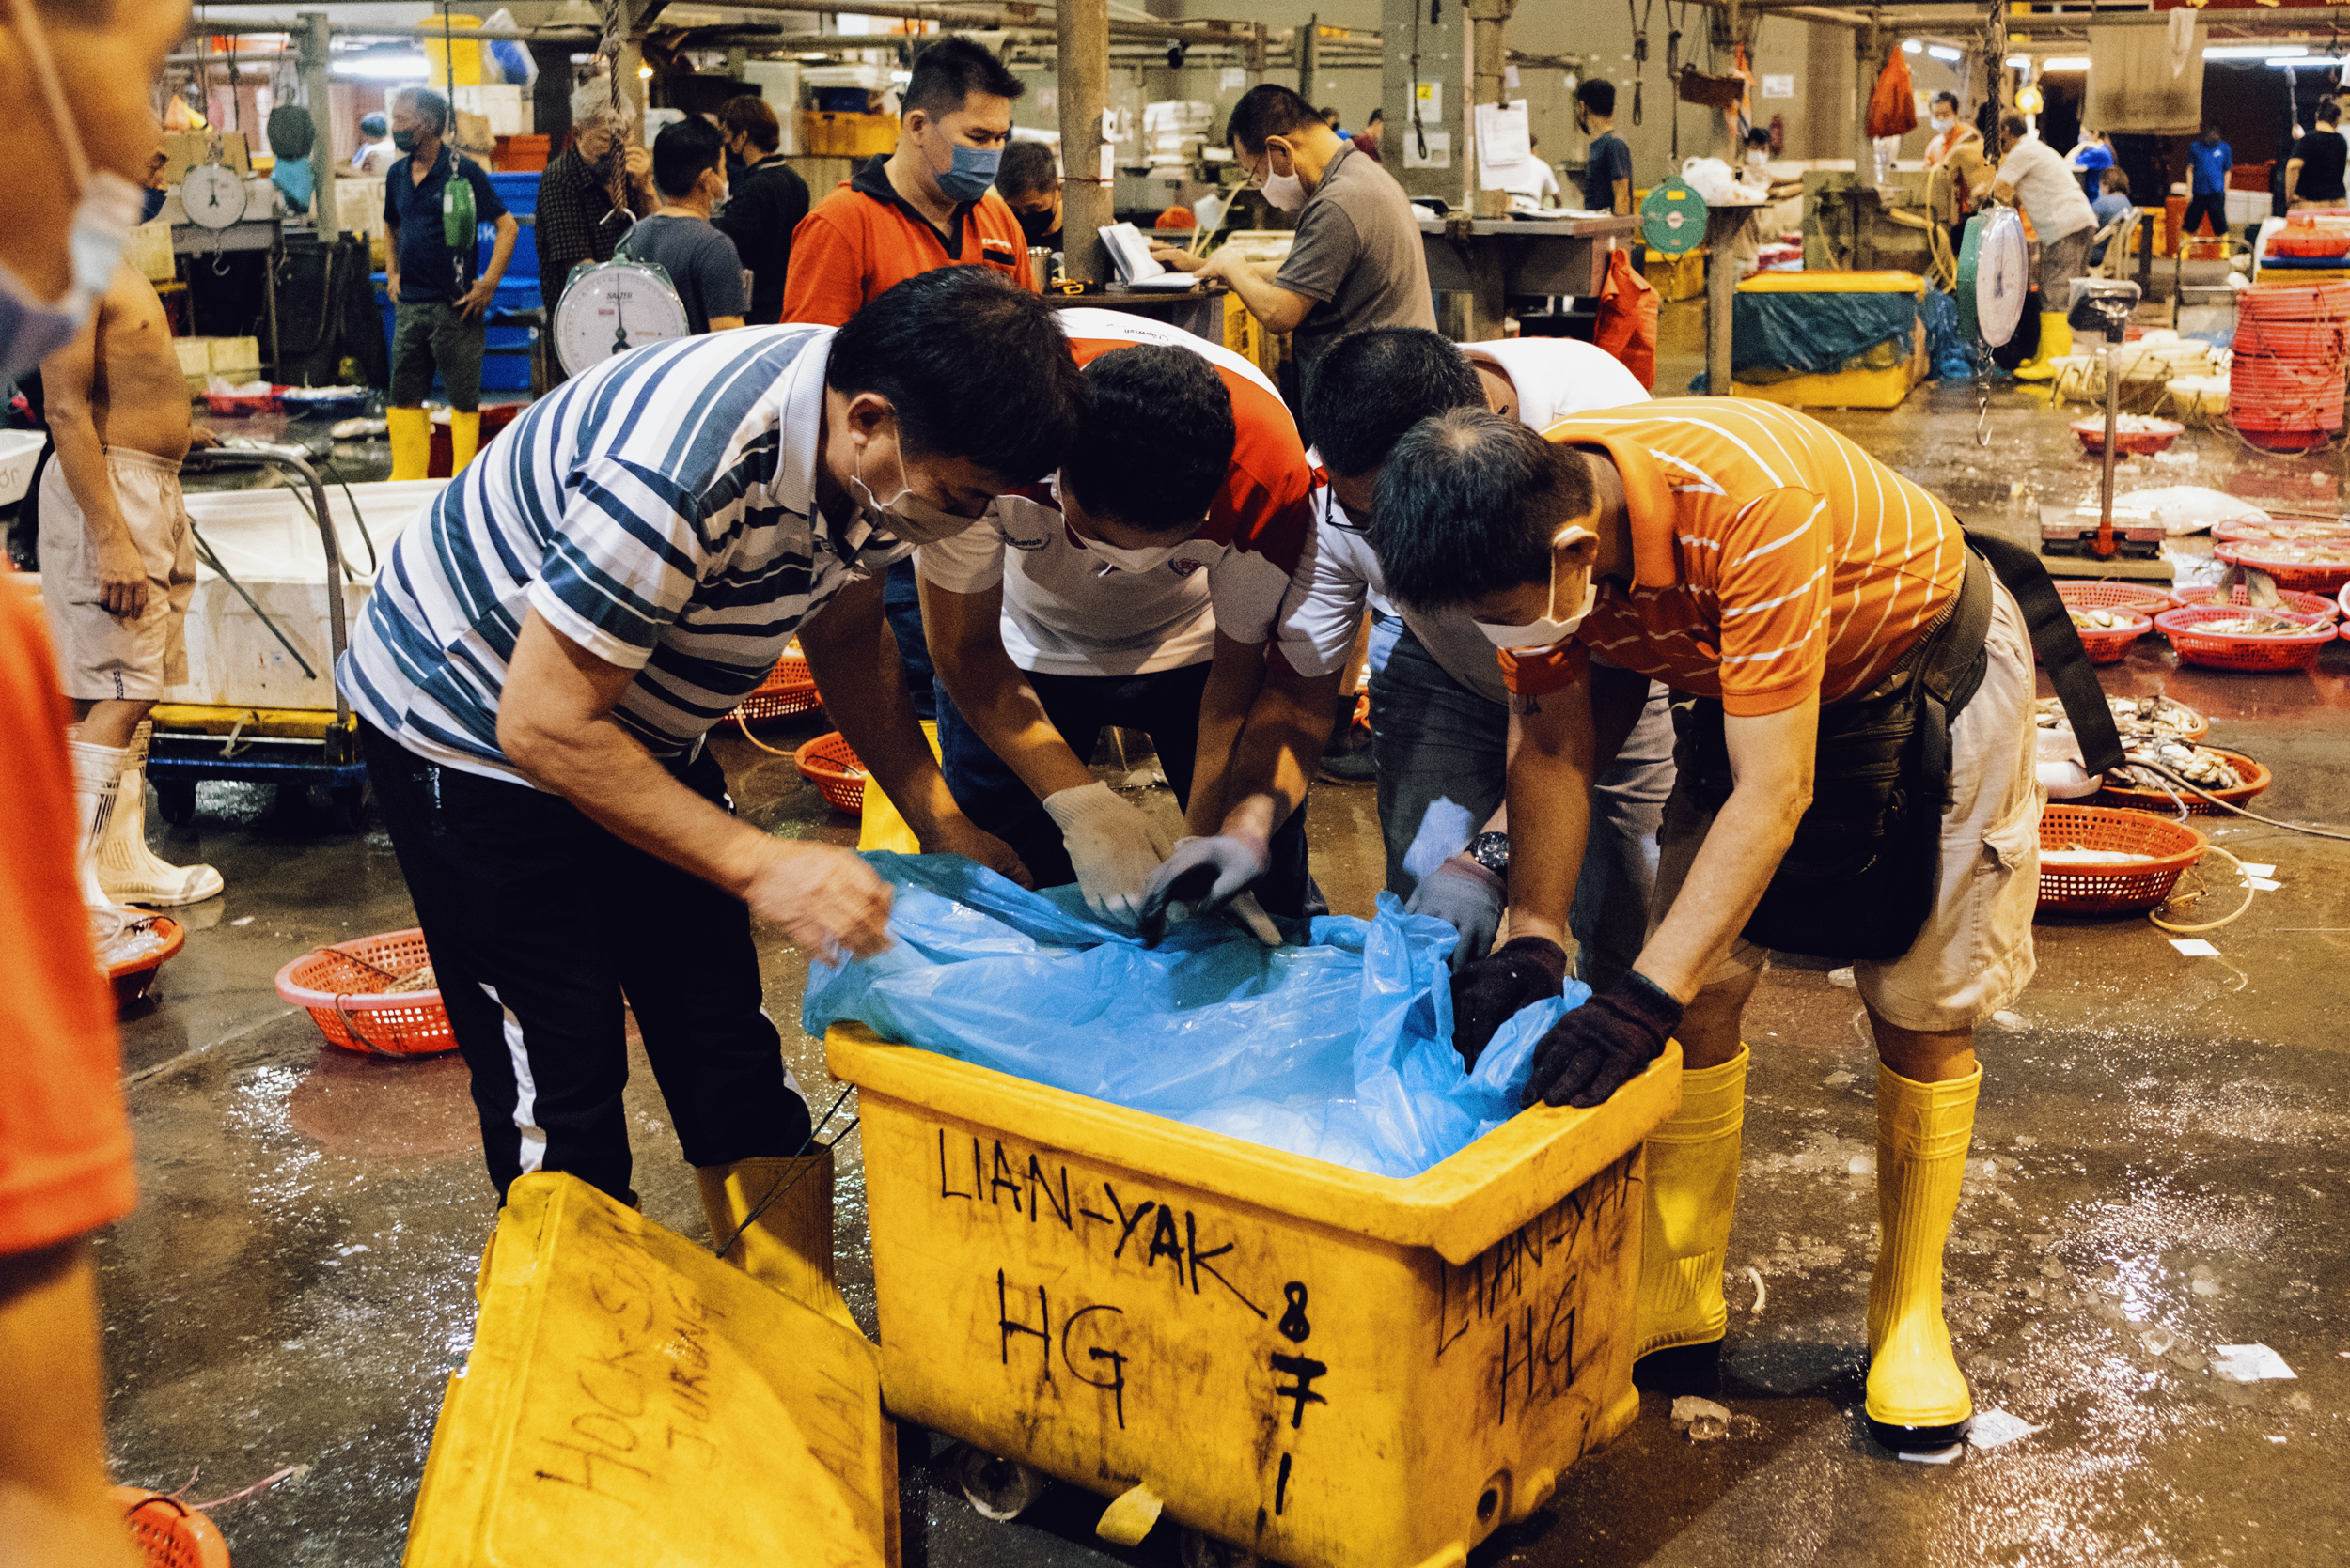
[[[1861,1000],[1899,1028],[1972,1028],[2007,1007],[2033,979],[2033,911],[2040,904],[2040,805],[2033,775],[2033,643],[2007,587],[1993,582],[1990,660],[1983,685],[1950,725],[1950,810],[1941,819],[1941,885],[1918,941],[1901,958],[1854,962]],[[1664,803],[1650,932],[1673,906],[1713,815],[1680,786]],[[1706,976],[1727,984],[1765,967],[1739,937]]]

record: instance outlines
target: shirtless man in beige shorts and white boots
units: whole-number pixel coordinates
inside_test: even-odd
[[[78,721],[82,901],[197,904],[221,892],[221,873],[146,847],[148,709],[188,678],[195,594],[179,462],[197,437],[155,284],[118,265],[89,324],[40,376],[56,446],[40,481],[40,596]]]

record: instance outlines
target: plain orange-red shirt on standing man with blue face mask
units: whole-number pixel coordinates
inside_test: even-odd
[[[783,319],[841,326],[877,293],[933,268],[985,265],[1025,289],[1027,235],[994,190],[959,202],[945,232],[888,183],[888,160],[865,162],[792,230],[792,268],[783,279]]]

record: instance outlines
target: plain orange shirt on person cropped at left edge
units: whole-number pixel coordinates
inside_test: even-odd
[[[80,840],[56,660],[0,563],[0,1253],[54,1246],[134,1202],[115,1002],[73,878]]]

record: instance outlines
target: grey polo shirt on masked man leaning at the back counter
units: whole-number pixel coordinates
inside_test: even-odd
[[[1419,251],[1412,202],[1394,174],[1351,146],[1330,160],[1297,214],[1297,239],[1274,282],[1314,300],[1314,310],[1290,336],[1300,373],[1309,373],[1332,343],[1365,326],[1436,331],[1436,300],[1429,293],[1429,263]]]

